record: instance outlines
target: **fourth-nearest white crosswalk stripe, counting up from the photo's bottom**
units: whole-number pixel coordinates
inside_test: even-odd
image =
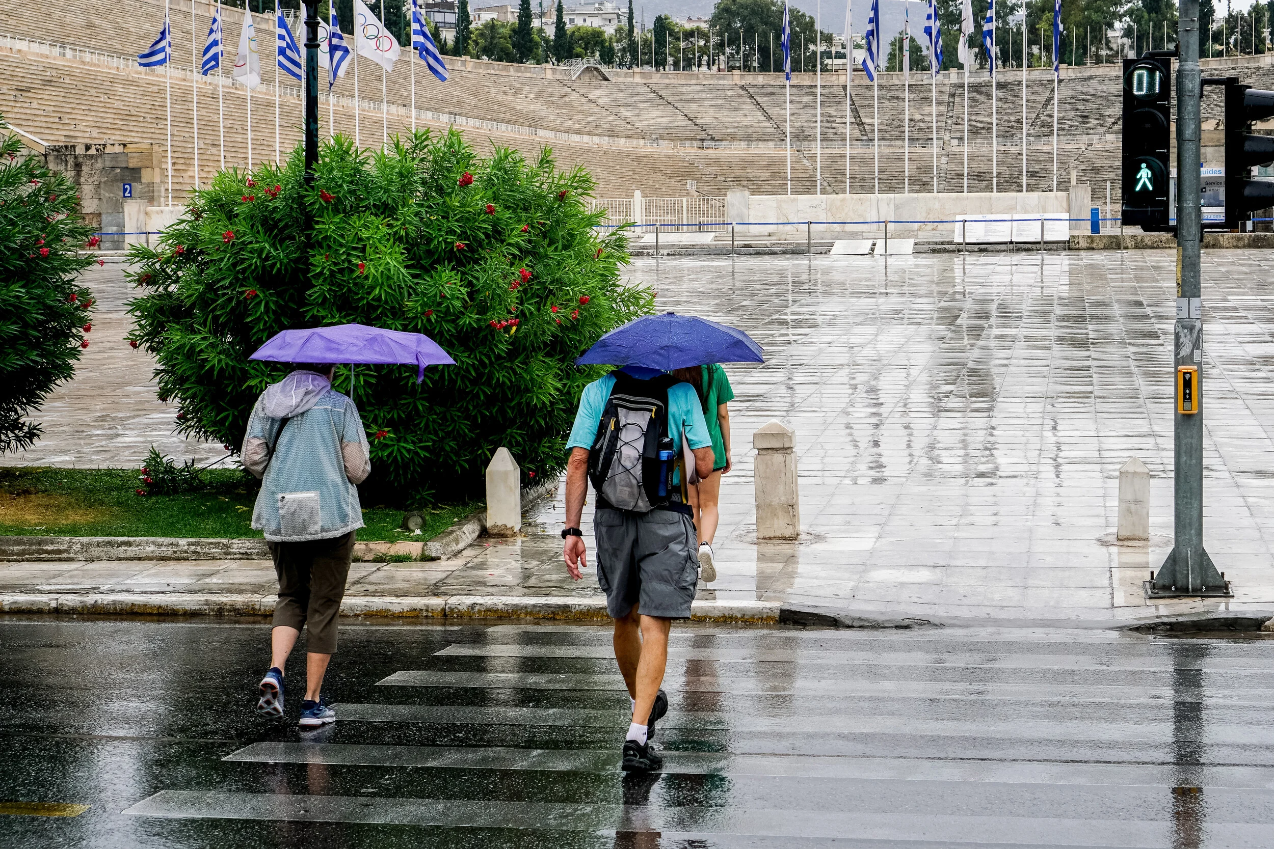
[[[787,680],[785,680],[787,678]],[[956,684],[944,681],[864,681],[837,678],[803,678],[782,675],[764,677],[678,677],[675,671],[664,678],[682,692],[827,692],[855,696],[906,695],[944,699],[1065,699],[1089,701],[1190,703],[1209,705],[1268,705],[1274,703],[1274,690],[1201,690],[1198,687],[1139,687],[1120,685],[1024,685],[1024,684]],[[571,675],[558,672],[451,672],[404,670],[377,682],[381,686],[406,687],[475,687],[524,690],[624,690],[619,675]]]

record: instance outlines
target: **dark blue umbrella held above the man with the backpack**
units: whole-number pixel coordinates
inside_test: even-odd
[[[598,340],[576,365],[643,365],[670,372],[708,363],[764,363],[761,345],[735,327],[697,316],[645,316]]]

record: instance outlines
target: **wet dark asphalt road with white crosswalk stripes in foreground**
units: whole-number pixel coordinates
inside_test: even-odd
[[[1270,845],[1259,636],[679,625],[656,776],[605,628],[344,624],[317,732],[252,713],[266,640],[0,620],[0,845]]]

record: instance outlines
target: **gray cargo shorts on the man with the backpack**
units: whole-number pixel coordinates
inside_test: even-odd
[[[689,619],[699,580],[698,536],[674,510],[627,513],[598,508],[598,583],[606,612],[623,619],[633,605],[646,616]]]

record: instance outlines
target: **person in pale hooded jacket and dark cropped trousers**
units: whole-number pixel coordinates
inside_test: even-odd
[[[261,479],[252,527],[265,535],[279,577],[270,671],[256,709],[283,717],[284,667],[308,626],[301,726],[316,728],[336,719],[322,678],[336,652],[354,532],[363,527],[357,485],[372,463],[354,402],[331,388],[335,367],[292,368],[257,398],[243,437],[243,466]]]

